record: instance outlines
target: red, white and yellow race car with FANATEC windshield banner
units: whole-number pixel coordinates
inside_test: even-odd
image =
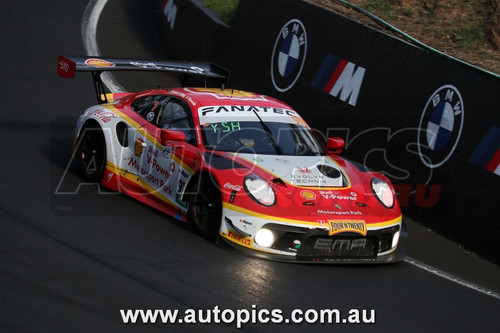
[[[103,71],[220,79],[220,88],[106,94]],[[227,89],[210,63],[58,57],[58,74],[92,73],[98,104],[78,119],[74,160],[86,181],[191,223],[220,245],[291,262],[404,258],[390,181],[339,156],[289,105]],[[187,80],[183,80],[186,82]]]

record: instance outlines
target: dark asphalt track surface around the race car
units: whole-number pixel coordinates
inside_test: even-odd
[[[162,56],[154,35],[157,1],[140,3],[108,3],[98,30],[104,55]],[[183,331],[194,327],[124,325],[119,310],[252,305],[285,314],[294,308],[375,309],[376,324],[246,325],[246,331],[500,331],[500,300],[408,262],[314,266],[249,258],[218,248],[132,199],[99,193],[95,186],[78,188],[70,163],[72,131],[95,96],[87,75],[57,78],[56,57],[84,54],[86,5],[0,2],[2,331]],[[137,76],[119,80],[128,89],[149,82]],[[500,291],[498,267],[414,223],[408,227],[412,258]]]

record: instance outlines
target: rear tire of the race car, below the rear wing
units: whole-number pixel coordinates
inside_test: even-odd
[[[82,129],[77,141],[75,160],[83,178],[88,182],[100,182],[106,170],[106,140],[98,125]]]

